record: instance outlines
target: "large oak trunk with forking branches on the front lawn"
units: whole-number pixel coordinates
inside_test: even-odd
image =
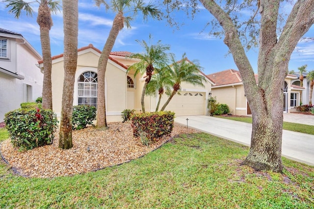
[[[200,0],[225,31],[224,43],[240,71],[252,110],[251,148],[242,164],[256,170],[281,172],[283,85],[288,62],[297,42],[314,23],[314,1],[298,0],[277,40],[280,0],[259,0],[261,13],[258,85],[231,17],[214,0]]]

